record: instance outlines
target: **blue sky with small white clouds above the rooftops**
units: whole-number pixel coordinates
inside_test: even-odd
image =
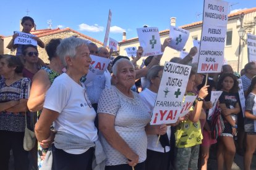
[[[231,10],[256,7],[255,0],[228,2],[229,5],[234,4]],[[51,20],[53,28],[69,27],[103,42],[109,9],[112,11],[109,37],[121,41],[123,31],[127,32],[127,39],[134,38],[137,36],[136,28],[143,25],[156,26],[159,30],[169,29],[170,17],[177,18],[176,26],[202,20],[203,0],[1,0],[0,34],[10,36],[19,30],[19,20],[27,15],[27,9],[38,30],[48,28],[47,21]]]

